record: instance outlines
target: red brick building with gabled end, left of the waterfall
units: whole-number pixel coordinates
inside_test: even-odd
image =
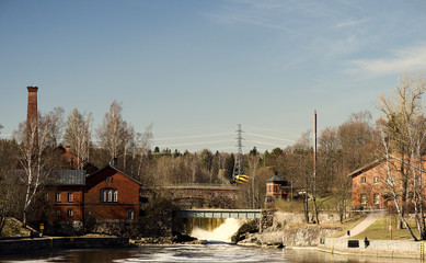
[[[43,213],[47,224],[81,229],[84,221],[135,221],[139,215],[140,183],[118,169],[105,168],[87,175],[85,170],[54,170]]]

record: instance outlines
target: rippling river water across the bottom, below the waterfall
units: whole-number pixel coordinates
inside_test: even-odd
[[[26,255],[3,255],[0,262],[350,262],[414,263],[418,260],[337,255],[316,250],[281,250],[229,243],[143,245],[128,249],[71,250]]]

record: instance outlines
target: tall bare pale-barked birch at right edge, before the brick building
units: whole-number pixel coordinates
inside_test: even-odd
[[[422,183],[422,155],[425,150],[423,148],[425,116],[422,107],[422,95],[425,91],[426,82],[422,76],[417,78],[404,76],[399,81],[393,98],[388,99],[384,95],[379,98],[379,108],[385,118],[379,127],[390,179],[393,179],[390,156],[394,153],[401,159],[398,176],[395,180],[389,180],[388,183],[401,224],[408,230],[414,240],[417,238],[404,218],[410,199],[413,201],[419,237],[422,240],[426,238]]]

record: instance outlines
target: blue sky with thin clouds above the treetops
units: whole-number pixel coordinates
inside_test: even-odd
[[[117,100],[152,147],[285,148],[370,111],[426,70],[426,1],[0,0],[0,124],[77,107],[93,135]]]

